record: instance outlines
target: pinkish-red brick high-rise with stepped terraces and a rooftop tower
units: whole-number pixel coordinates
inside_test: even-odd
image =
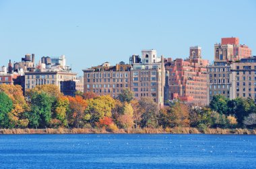
[[[165,61],[168,77],[168,95],[166,99],[179,99],[197,105],[207,104],[208,60],[201,59],[201,47],[193,46],[189,50],[189,59],[177,58]]]

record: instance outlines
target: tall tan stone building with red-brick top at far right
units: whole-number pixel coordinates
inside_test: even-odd
[[[222,38],[221,44],[214,45],[214,64],[207,66],[207,104],[214,95],[254,97],[251,68],[255,62],[250,54],[251,49],[239,44],[238,38]]]

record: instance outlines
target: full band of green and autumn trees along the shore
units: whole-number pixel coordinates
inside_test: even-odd
[[[255,111],[252,99],[228,100],[221,95],[214,96],[210,107],[177,100],[158,109],[150,97],[137,101],[127,89],[117,99],[81,92],[69,97],[45,84],[28,89],[24,96],[19,85],[0,84],[1,128],[255,127]]]

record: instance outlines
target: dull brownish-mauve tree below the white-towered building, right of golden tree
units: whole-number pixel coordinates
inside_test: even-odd
[[[139,100],[139,111],[141,111],[141,127],[158,126],[158,105],[150,97],[141,97]]]

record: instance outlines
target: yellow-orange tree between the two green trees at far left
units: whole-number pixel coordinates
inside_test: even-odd
[[[8,95],[13,103],[13,109],[9,113],[10,125],[24,128],[28,126],[26,111],[29,107],[25,101],[22,87],[20,85],[0,84],[0,91]]]

